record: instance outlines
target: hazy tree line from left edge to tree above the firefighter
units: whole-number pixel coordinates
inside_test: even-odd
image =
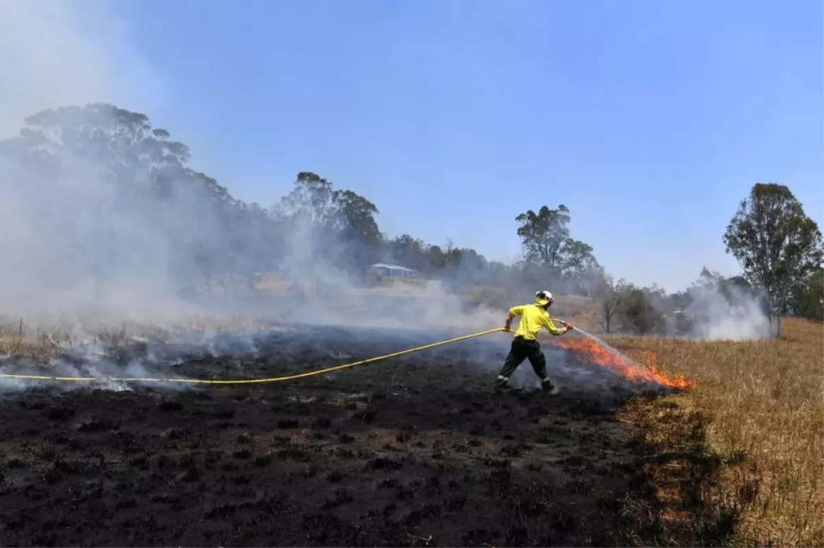
[[[129,249],[141,231],[168,247],[168,274],[187,285],[227,274],[251,281],[256,271],[295,260],[311,267],[318,259],[349,271],[395,262],[456,288],[528,286],[524,294],[535,290],[533,284],[586,293],[599,272],[592,248],[569,237],[564,206],[518,217],[527,261],[489,262],[475,249],[451,243],[431,245],[411,235],[387,238],[373,202],[311,171],[298,173],[291,191],[269,211],[242,202],[216,179],[190,169],[189,147],[166,129],[153,128],[145,114],[111,104],[34,114],[19,137],[0,142],[0,156],[11,160],[21,185],[40,185],[52,197],[46,210],[77,211],[82,222],[55,225],[54,253],[66,253],[67,261],[77,258],[97,281],[128,271],[119,261],[129,253],[112,252]],[[49,222],[53,216],[46,210],[39,213]],[[120,230],[122,225],[142,228]]]

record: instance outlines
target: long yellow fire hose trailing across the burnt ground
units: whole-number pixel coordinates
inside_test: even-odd
[[[284,375],[283,377],[272,377],[272,378],[218,378],[218,379],[206,379],[206,378],[141,378],[141,377],[54,377],[50,375],[26,375],[26,374],[10,374],[4,373],[0,374],[0,378],[21,378],[27,380],[40,380],[40,381],[56,381],[56,382],[94,382],[94,381],[109,381],[109,382],[118,382],[118,383],[187,383],[187,384],[257,384],[257,383],[279,383],[282,381],[288,380],[295,380],[296,378],[306,378],[306,377],[313,377],[315,375],[322,375],[326,373],[331,373],[332,371],[338,371],[339,369],[347,369],[349,367],[354,367],[356,365],[365,365],[371,364],[373,361],[380,361],[380,360],[388,360],[390,358],[395,358],[399,355],[404,354],[411,354],[412,352],[419,352],[428,350],[429,348],[434,348],[435,346],[443,346],[452,344],[453,342],[458,341],[466,341],[466,339],[472,339],[475,337],[484,337],[485,335],[489,335],[490,333],[499,332],[499,331],[506,331],[503,327],[498,327],[497,329],[489,329],[489,331],[482,331],[479,333],[472,333],[471,335],[464,335],[463,337],[455,337],[454,339],[448,339],[447,341],[440,341],[440,342],[433,342],[432,344],[424,345],[424,346],[415,346],[414,348],[407,349],[405,351],[398,351],[392,352],[391,354],[386,355],[379,355],[374,358],[369,358],[368,360],[360,360],[355,361],[351,364],[344,364],[344,365],[334,365],[332,367],[327,367],[325,369],[316,369],[314,371],[307,371],[306,373],[298,373],[293,375]]]

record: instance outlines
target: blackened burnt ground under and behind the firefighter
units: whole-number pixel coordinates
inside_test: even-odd
[[[438,340],[419,338],[280,333],[115,361],[269,377]],[[559,397],[496,397],[507,345],[288,383],[2,393],[0,546],[628,546],[624,501],[645,496],[615,416],[631,392],[566,364]]]

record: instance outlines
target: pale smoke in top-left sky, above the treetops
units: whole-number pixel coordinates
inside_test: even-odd
[[[110,2],[0,0],[0,138],[26,116],[68,104],[152,109],[162,82],[130,32]]]

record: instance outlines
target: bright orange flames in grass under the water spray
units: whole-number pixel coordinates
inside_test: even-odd
[[[630,381],[658,383],[668,388],[695,388],[695,381],[683,375],[669,377],[667,374],[662,373],[662,371],[658,369],[658,366],[655,365],[655,354],[653,352],[644,352],[646,363],[642,365],[635,363],[617,351],[611,351],[605,348],[589,337],[553,338],[545,342],[553,346],[559,346],[560,348],[587,355],[588,363],[611,369]]]

